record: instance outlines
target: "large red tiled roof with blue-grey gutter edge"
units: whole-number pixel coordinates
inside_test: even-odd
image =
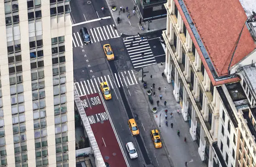
[[[227,76],[228,67],[236,65],[256,48],[239,0],[174,1],[179,4],[186,27],[190,27],[189,34],[212,84],[238,81],[236,76]]]

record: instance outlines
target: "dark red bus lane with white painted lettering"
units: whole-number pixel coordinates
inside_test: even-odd
[[[125,157],[118,144],[108,112],[99,93],[81,96],[80,100],[88,117],[101,155],[110,167],[127,167]]]

